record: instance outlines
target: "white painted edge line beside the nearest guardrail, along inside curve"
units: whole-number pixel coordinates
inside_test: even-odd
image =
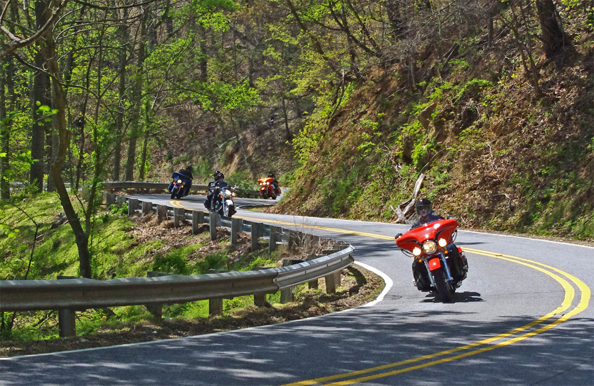
[[[378,295],[378,297],[374,301],[371,301],[371,302],[366,303],[366,304],[363,304],[363,305],[359,305],[357,307],[348,308],[347,310],[330,312],[329,314],[324,314],[324,315],[319,315],[319,316],[314,316],[314,317],[309,317],[309,318],[304,318],[304,319],[289,320],[289,321],[282,322],[282,323],[267,324],[266,326],[255,326],[255,327],[239,328],[238,330],[221,331],[219,333],[200,334],[200,335],[184,336],[184,337],[179,337],[179,338],[169,338],[169,339],[161,339],[161,340],[151,340],[150,342],[137,342],[137,343],[115,344],[113,346],[104,346],[104,347],[89,347],[88,349],[78,349],[78,350],[67,350],[67,351],[58,351],[58,352],[48,352],[48,353],[42,353],[42,354],[30,354],[30,355],[18,355],[18,356],[4,356],[4,357],[1,357],[0,358],[0,361],[11,361],[12,359],[31,358],[31,357],[37,357],[37,356],[62,355],[62,354],[69,354],[69,353],[76,353],[76,352],[85,352],[85,351],[93,351],[93,350],[115,349],[115,348],[119,348],[119,347],[141,346],[142,344],[158,344],[158,343],[170,342],[172,340],[204,339],[206,337],[213,336],[213,335],[223,336],[223,335],[227,335],[227,334],[234,334],[234,333],[237,333],[238,331],[255,330],[256,328],[267,328],[267,327],[271,327],[271,326],[280,326],[281,324],[287,324],[287,323],[298,323],[298,322],[302,322],[302,321],[305,321],[305,320],[311,320],[311,319],[314,319],[314,318],[328,317],[328,316],[331,316],[331,315],[340,314],[341,312],[348,312],[348,311],[356,310],[357,308],[360,308],[360,307],[371,307],[371,306],[377,304],[378,302],[381,302],[384,299],[384,296],[388,293],[388,291],[390,291],[390,289],[393,286],[393,282],[390,279],[390,277],[388,277],[388,275],[386,275],[386,273],[381,272],[377,268],[374,268],[372,266],[369,266],[369,265],[367,265],[365,263],[361,263],[360,261],[356,261],[355,260],[355,264],[357,264],[359,266],[362,266],[366,270],[369,270],[369,271],[375,273],[376,275],[380,276],[382,279],[384,279],[384,282],[386,282],[386,287],[384,288],[384,291],[382,291],[381,294]],[[84,336],[83,336],[83,338],[84,338]]]

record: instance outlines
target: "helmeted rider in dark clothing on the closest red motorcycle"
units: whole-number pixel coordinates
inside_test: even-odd
[[[421,227],[421,225],[428,224],[432,221],[437,221],[443,219],[442,216],[438,215],[437,213],[433,212],[433,203],[427,199],[422,198],[419,199],[415,203],[416,213],[420,216],[417,221],[415,221],[410,229],[414,229],[417,227]],[[401,233],[396,235],[396,238],[400,237]],[[462,280],[466,277],[466,272],[468,270],[468,262],[466,260],[466,256],[463,256],[458,251],[458,247],[454,243],[447,245],[445,247],[447,250],[448,257],[451,257],[451,275],[455,281]],[[449,265],[449,264],[448,264]],[[431,286],[431,280],[429,280],[429,276],[425,267],[424,263],[419,263],[417,259],[415,259],[412,263],[412,275],[415,279],[415,285],[419,289],[419,291],[429,291],[429,287]]]

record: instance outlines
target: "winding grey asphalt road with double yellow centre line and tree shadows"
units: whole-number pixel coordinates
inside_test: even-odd
[[[143,197],[204,208],[201,196]],[[366,307],[274,326],[4,358],[0,384],[594,384],[592,247],[459,231],[468,278],[443,304],[416,291],[411,261],[394,249],[405,225],[237,216],[347,241],[386,291]]]

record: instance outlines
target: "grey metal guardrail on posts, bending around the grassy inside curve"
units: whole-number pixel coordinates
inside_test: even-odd
[[[286,241],[289,248],[295,246],[306,237],[316,240],[320,238],[298,231],[264,226],[260,222],[243,221],[242,219],[220,219],[214,213],[191,211],[182,208],[156,207],[145,202],[140,205],[136,199],[128,199],[129,213],[132,214],[140,206],[143,212],[159,207],[165,213],[172,213],[175,219],[192,221],[192,232],[203,222],[209,224],[211,239],[216,237],[216,226],[222,224],[231,228],[231,240],[237,232],[249,231],[252,237],[252,248],[257,247],[258,238],[268,236],[270,250],[276,244]],[[201,215],[200,215],[201,214]],[[189,218],[188,218],[189,215]],[[229,225],[228,225],[229,224]],[[340,283],[340,270],[354,262],[354,248],[343,245],[342,250],[334,250],[327,256],[304,261],[282,268],[270,268],[247,272],[210,273],[205,275],[168,275],[159,277],[131,277],[112,280],[93,280],[85,278],[63,280],[0,280],[0,311],[32,311],[55,310],[59,312],[60,336],[74,334],[74,311],[96,307],[117,307],[122,305],[161,305],[184,303],[209,299],[217,310],[222,311],[222,299],[254,294],[259,302],[263,302],[263,294],[272,294],[305,282],[312,282],[326,277],[327,291],[335,291],[336,282]],[[316,284],[317,285],[317,284]],[[284,290],[283,290],[284,291]],[[152,312],[152,311],[151,311]],[[160,314],[160,311],[159,311]],[[65,327],[66,326],[66,327]],[[63,332],[64,331],[64,332]]]

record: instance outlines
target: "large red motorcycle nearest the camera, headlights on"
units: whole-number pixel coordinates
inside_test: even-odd
[[[462,248],[456,248],[455,219],[441,219],[410,229],[405,234],[396,235],[396,245],[407,256],[422,264],[416,281],[426,280],[428,289],[421,291],[437,292],[444,301],[451,301],[456,288],[466,279],[468,265]],[[414,271],[414,268],[413,268]],[[426,276],[425,276],[426,275]]]

